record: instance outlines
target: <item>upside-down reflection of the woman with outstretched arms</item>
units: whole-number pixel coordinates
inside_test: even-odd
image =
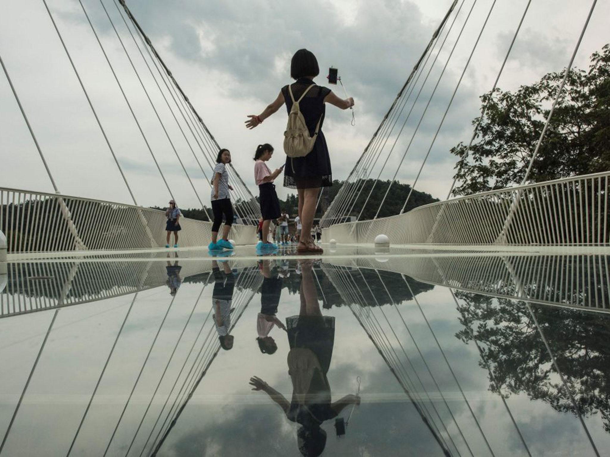
[[[259,377],[250,378],[254,391],[264,391],[284,410],[286,417],[301,425],[297,437],[304,456],[318,456],[326,445],[326,432],[320,425],[339,414],[345,406],[360,403],[357,395],[346,395],[331,403],[328,384],[334,344],[335,319],[322,316],[315,290],[312,263],[301,263],[301,310],[287,321],[290,352],[288,373],[292,380],[292,400],[271,388]]]

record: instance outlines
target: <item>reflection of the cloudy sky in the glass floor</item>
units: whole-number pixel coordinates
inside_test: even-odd
[[[324,272],[318,267],[315,272],[324,285]],[[381,275],[384,280],[394,278],[393,274],[386,275],[382,272]],[[297,275],[290,275],[290,278],[293,277]],[[411,281],[409,284],[414,287]],[[135,428],[149,402],[149,395],[159,381],[173,345],[202,287],[203,283],[183,283],[163,325],[163,331],[135,392],[132,405],[127,409],[121,423],[112,452],[118,453],[119,449],[123,449],[124,454],[126,444],[133,438]],[[385,292],[381,293],[379,287],[373,287],[373,292],[379,291],[379,296],[385,296]],[[418,302],[494,452],[496,455],[523,455],[523,445],[508,412],[500,398],[489,391],[489,375],[487,370],[479,365],[480,356],[476,347],[472,343],[464,344],[456,338],[456,333],[464,327],[458,320],[460,314],[450,292],[442,286],[434,286],[431,289],[431,286],[423,284],[420,290],[417,294]],[[300,296],[286,292],[282,292],[278,307],[278,317],[282,320],[297,314],[300,306]],[[185,352],[192,344],[199,325],[207,316],[211,293],[212,288],[207,286],[193,314],[191,325],[179,345],[176,360],[170,365],[160,386],[159,397],[152,403],[149,416],[144,422],[143,430],[146,433],[141,431],[135,441],[134,448],[137,450],[148,436],[149,427],[152,427],[170,391],[171,383],[178,375],[179,367],[186,356]],[[318,298],[321,302],[321,297]],[[32,456],[65,455],[91,389],[126,313],[129,299],[131,296],[115,297],[59,311],[48,347],[43,353],[26,397],[27,401],[11,433],[8,455],[11,455],[8,451],[24,448],[27,448],[28,455]],[[133,385],[137,370],[142,365],[154,332],[169,303],[165,286],[138,294],[138,300],[118,342],[115,356],[84,422],[77,441],[77,450],[84,453],[85,444],[90,449],[103,449],[106,446],[123,402],[126,401],[125,391]],[[414,300],[408,300],[399,303],[397,308],[409,325],[409,330],[473,448],[473,453],[485,455],[486,447],[481,435],[417,305]],[[275,336],[278,352],[271,356],[260,353],[256,344],[256,317],[259,311],[260,294],[256,294],[234,328],[234,349],[218,355],[176,427],[169,434],[159,456],[300,455],[296,445],[296,425],[290,423],[281,409],[267,397],[261,397],[260,392],[249,390],[249,377],[259,375],[287,397],[292,392],[286,363],[288,341],[283,333],[277,333]],[[439,392],[419,358],[395,306],[371,306],[369,311],[382,323],[381,327],[404,361],[404,355],[381,311],[389,318],[405,352],[422,378],[425,390],[439,409],[443,422],[447,424],[451,436],[462,452],[465,448],[461,444],[459,434],[446,409],[443,409]],[[14,405],[23,389],[23,382],[40,347],[41,338],[48,328],[51,313],[42,311],[0,319],[0,345],[10,344],[9,350],[0,352],[0,366],[3,367],[0,370],[0,398],[7,399],[0,401],[0,431],[5,430],[8,425]],[[323,314],[336,318],[335,345],[328,372],[332,399],[353,394],[356,390],[356,377],[362,377],[362,405],[356,408],[346,436],[336,438],[332,421],[323,425],[328,434],[323,455],[441,455],[440,448],[428,428],[414,406],[408,402],[406,394],[365,331],[354,319],[350,308],[332,306],[330,310],[323,310]],[[552,336],[552,333],[548,335],[551,344]],[[22,342],[23,338],[27,339]],[[414,397],[425,399],[426,392],[415,381],[411,367],[406,363],[405,366],[416,385],[416,388],[412,389]],[[427,403],[427,400],[423,403]],[[578,419],[572,414],[559,413],[547,403],[532,401],[523,394],[511,395],[507,403],[533,455],[589,453],[587,438]],[[342,416],[346,417],[347,414],[348,410],[345,410]],[[603,432],[599,414],[585,420],[598,448],[607,448],[610,444],[609,434]],[[32,430],[37,430],[34,440],[31,438]],[[462,455],[467,454],[462,452]]]

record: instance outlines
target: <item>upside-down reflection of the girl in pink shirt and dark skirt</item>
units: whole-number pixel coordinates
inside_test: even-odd
[[[264,277],[260,287],[260,313],[256,319],[258,333],[256,342],[259,344],[260,352],[271,355],[278,350],[278,345],[273,337],[269,336],[269,333],[276,325],[282,330],[286,330],[286,326],[276,316],[284,281],[278,277],[276,269],[271,271],[268,260],[261,263],[261,272]]]

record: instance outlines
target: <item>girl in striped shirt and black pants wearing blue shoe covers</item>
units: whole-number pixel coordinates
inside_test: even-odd
[[[214,222],[212,224],[212,243],[208,246],[209,250],[233,249],[233,245],[229,243],[229,230],[231,230],[233,224],[233,207],[229,195],[229,191],[233,188],[229,185],[229,173],[227,171],[229,163],[231,163],[231,152],[228,149],[218,151],[211,196]],[[223,216],[223,236],[220,241],[217,241],[218,229],[223,222]]]

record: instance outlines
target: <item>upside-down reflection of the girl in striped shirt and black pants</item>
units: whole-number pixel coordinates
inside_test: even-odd
[[[231,331],[231,313],[235,308],[231,308],[233,300],[233,289],[235,279],[233,272],[226,261],[221,261],[223,271],[220,271],[217,261],[212,261],[212,274],[214,275],[214,289],[212,291],[212,306],[214,310],[214,324],[220,340],[220,346],[224,350],[233,347],[233,336]]]

